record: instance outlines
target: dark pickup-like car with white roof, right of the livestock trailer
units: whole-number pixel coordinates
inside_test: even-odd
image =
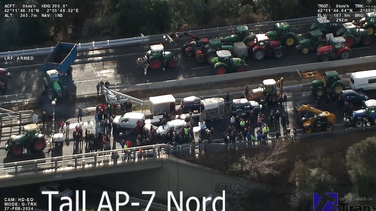
[[[231,111],[234,115],[241,116],[243,114],[250,113],[251,111],[257,114],[261,109],[262,105],[260,105],[257,101],[249,101],[246,98],[232,100]]]

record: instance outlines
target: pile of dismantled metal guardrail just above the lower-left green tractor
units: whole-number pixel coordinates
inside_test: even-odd
[[[33,110],[0,113],[0,128],[32,123]]]

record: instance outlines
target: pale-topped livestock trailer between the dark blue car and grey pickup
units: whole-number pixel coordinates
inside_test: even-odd
[[[202,99],[201,104],[204,105],[204,110],[200,113],[200,121],[217,120],[224,115],[223,98]]]

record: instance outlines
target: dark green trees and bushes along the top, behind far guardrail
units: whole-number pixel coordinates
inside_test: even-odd
[[[21,5],[27,0],[14,0]],[[4,8],[5,1],[0,1]],[[57,18],[2,18],[0,51],[53,46],[57,41],[91,42],[171,31],[221,27],[317,15],[320,0],[33,0],[60,3],[79,12]],[[335,5],[350,0],[329,0]],[[41,8],[38,6],[38,8]],[[291,9],[291,8],[299,8]],[[40,15],[41,13],[39,13]],[[0,11],[4,17],[5,11]]]

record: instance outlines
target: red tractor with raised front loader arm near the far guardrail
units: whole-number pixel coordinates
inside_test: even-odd
[[[183,45],[182,52],[187,57],[193,57],[196,50],[203,50],[205,45],[209,44],[208,38],[199,38],[195,35],[192,35],[188,32],[182,32],[179,36],[176,33],[172,33],[167,35],[167,39],[169,41],[176,41],[177,39],[181,38],[182,36],[188,36],[190,38],[193,38],[194,40],[191,42],[188,42]]]

